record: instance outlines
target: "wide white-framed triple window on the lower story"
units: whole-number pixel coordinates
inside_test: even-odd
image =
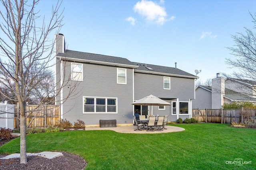
[[[116,113],[117,98],[83,97],[84,113]]]

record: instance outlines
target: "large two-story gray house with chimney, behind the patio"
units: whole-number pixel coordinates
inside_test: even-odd
[[[64,49],[64,36],[56,35],[56,83],[61,118],[99,126],[100,119],[133,125],[135,113],[148,115],[150,106],[131,103],[150,94],[171,103],[153,106],[154,115],[168,121],[192,117],[194,82],[198,78],[178,68],[134,63],[112,57]],[[72,93],[70,93],[72,92]]]

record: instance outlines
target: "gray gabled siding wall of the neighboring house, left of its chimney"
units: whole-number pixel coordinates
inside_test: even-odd
[[[212,92],[198,87],[196,89],[196,99],[192,100],[192,109],[212,109]]]

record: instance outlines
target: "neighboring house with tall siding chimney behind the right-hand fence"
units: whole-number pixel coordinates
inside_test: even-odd
[[[256,82],[218,76],[212,86],[197,86],[193,109],[220,109],[224,103],[256,102]]]

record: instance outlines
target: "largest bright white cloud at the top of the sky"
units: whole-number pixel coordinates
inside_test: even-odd
[[[164,3],[164,1],[161,0],[160,3]],[[133,9],[134,12],[146,17],[149,22],[163,25],[164,22],[168,21],[165,9],[152,1],[141,0],[136,3]]]

